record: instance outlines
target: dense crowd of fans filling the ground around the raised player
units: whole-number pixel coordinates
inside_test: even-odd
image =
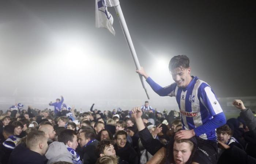
[[[0,112],[0,164],[189,164],[197,149],[194,137],[177,140],[180,113],[162,113],[145,105],[132,110],[77,111],[50,102],[54,110]],[[238,118],[217,128],[218,163],[256,163],[256,118],[241,100]],[[211,156],[210,154],[208,156]]]

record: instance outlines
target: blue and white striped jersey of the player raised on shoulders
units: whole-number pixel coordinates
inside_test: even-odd
[[[214,129],[212,128],[213,126],[202,128],[201,125],[204,125],[207,121],[211,120],[213,118],[212,116],[222,113],[222,108],[211,87],[197,77],[192,78],[192,81],[185,88],[177,87],[176,83],[161,87],[150,77],[147,78],[147,82],[160,96],[168,95],[176,97],[180,109],[182,129],[194,129],[195,133],[198,134],[197,127],[200,126],[198,128],[201,131],[201,134],[198,135],[200,138],[216,141],[216,127]]]

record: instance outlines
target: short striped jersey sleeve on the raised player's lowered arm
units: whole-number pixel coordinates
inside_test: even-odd
[[[221,105],[210,86],[203,86],[200,89],[200,102],[207,108],[211,116],[223,112]]]

